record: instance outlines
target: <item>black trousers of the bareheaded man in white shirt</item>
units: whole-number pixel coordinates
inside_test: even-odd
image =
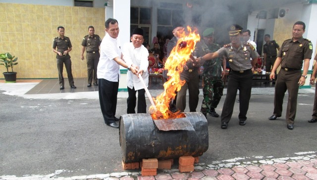
[[[119,82],[98,79],[99,102],[106,124],[114,123]]]

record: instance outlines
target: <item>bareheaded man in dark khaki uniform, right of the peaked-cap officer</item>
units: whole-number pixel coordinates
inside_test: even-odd
[[[277,54],[272,72],[269,76],[274,79],[275,71],[279,65],[281,70],[278,73],[275,82],[274,94],[274,111],[269,120],[275,120],[282,115],[282,105],[286,90],[288,91],[288,102],[286,108],[287,129],[294,128],[294,120],[297,108],[297,95],[299,86],[304,86],[310,59],[313,54],[313,44],[311,41],[304,39],[305,23],[297,21],[293,26],[293,38],[285,40],[281,50]],[[304,61],[303,73],[302,66]]]

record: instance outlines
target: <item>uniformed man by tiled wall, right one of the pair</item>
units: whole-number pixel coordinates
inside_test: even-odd
[[[81,49],[81,60],[84,60],[84,51],[86,49],[86,59],[87,59],[87,74],[88,74],[88,85],[91,87],[91,84],[94,80],[94,85],[98,86],[97,79],[97,66],[100,58],[99,46],[101,44],[101,38],[98,35],[95,35],[95,28],[93,26],[88,27],[88,35],[84,36],[83,46]]]

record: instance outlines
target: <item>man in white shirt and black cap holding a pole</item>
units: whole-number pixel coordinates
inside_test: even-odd
[[[126,43],[123,46],[122,54],[123,59],[127,64],[135,64],[139,68],[140,74],[146,84],[149,85],[149,51],[143,44],[143,30],[141,28],[135,28],[132,33],[131,42]],[[127,73],[127,86],[128,86],[128,98],[127,98],[127,114],[135,113],[136,106],[136,92],[138,91],[138,113],[147,112],[147,103],[145,101],[145,89],[141,80],[132,74],[131,71]]]

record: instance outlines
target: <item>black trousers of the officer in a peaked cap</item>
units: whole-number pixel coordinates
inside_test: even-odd
[[[244,71],[243,73],[231,71],[229,74],[229,81],[227,86],[227,95],[224,100],[221,123],[228,123],[233,113],[233,107],[237,96],[237,90],[239,88],[239,120],[247,120],[247,112],[249,109],[249,101],[251,97],[253,73],[251,69]]]

